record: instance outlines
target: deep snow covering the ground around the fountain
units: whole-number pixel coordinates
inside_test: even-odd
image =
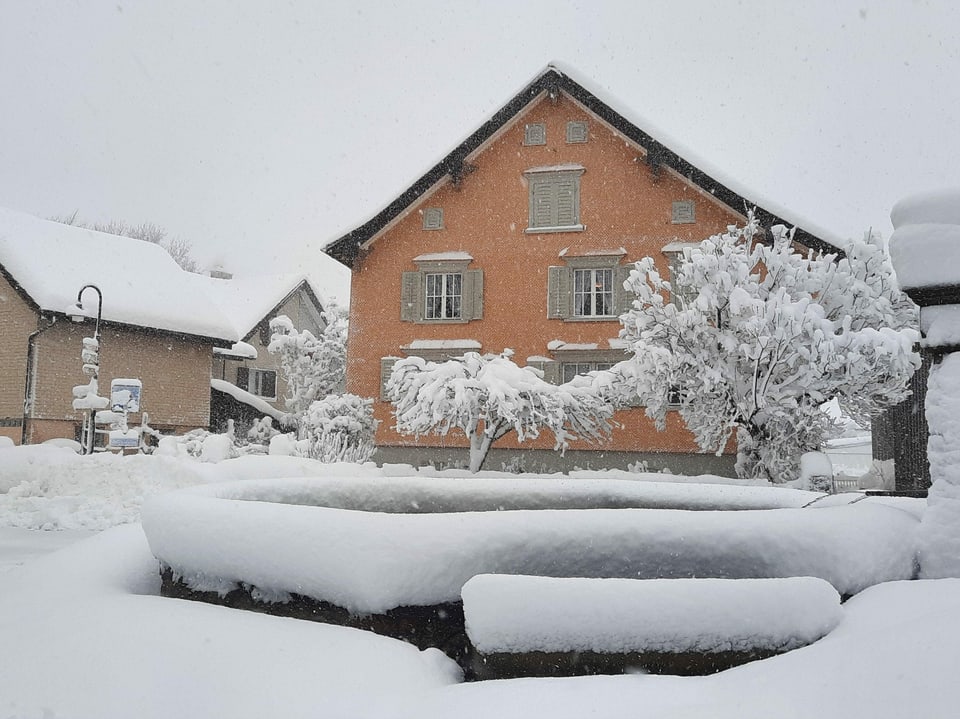
[[[89,458],[63,455],[59,464],[74,469],[51,471],[50,463],[15,460],[8,451],[23,450],[0,450],[3,476],[15,465],[21,474],[0,494],[0,526],[99,528],[110,520],[134,521],[46,556],[17,560],[9,546],[3,551],[12,560],[0,572],[3,717],[579,719],[642,713],[900,719],[952,717],[960,705],[954,676],[960,580],[870,587],[845,603],[836,628],[811,646],[709,677],[464,684],[456,665],[438,651],[421,652],[359,630],[158,596],[157,561],[135,521],[145,495],[264,472],[304,477],[322,469],[286,461],[291,458],[280,466],[272,459],[205,465],[129,457],[122,469],[111,469],[113,460],[96,458],[99,474],[110,482],[89,483],[79,469]],[[356,472],[370,476],[374,470]],[[55,499],[54,493],[71,487],[71,477],[85,487],[66,495],[73,497],[69,501]],[[24,485],[29,489],[18,489]],[[913,516],[922,511],[917,501],[894,504]],[[0,533],[0,542],[4,537],[9,535]],[[41,551],[40,544],[28,542],[29,553]]]

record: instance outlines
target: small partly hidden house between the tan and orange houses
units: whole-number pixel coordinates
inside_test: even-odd
[[[232,347],[213,350],[211,428],[223,431],[228,419],[241,428],[264,415],[279,420],[286,412],[287,383],[278,356],[267,351],[270,320],[286,315],[301,332],[319,336],[326,327],[319,292],[303,275],[233,278],[217,273],[197,281],[241,338]]]

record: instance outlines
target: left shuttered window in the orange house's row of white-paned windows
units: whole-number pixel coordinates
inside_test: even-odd
[[[404,272],[400,319],[404,322],[469,322],[483,317],[483,270],[467,269],[466,252],[420,255],[417,272]]]

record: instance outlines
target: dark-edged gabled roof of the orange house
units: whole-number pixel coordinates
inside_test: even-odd
[[[840,238],[814,227],[809,222],[790,216],[788,211],[775,203],[764,201],[757,193],[738,187],[735,181],[725,178],[709,163],[695,160],[693,153],[686,150],[677,151],[680,145],[667,140],[666,133],[653,129],[649,123],[642,120],[631,120],[621,114],[621,111],[614,109],[615,104],[622,106],[620,103],[601,99],[601,93],[587,89],[586,85],[573,79],[569,70],[561,69],[556,63],[548,65],[506,105],[497,110],[490,119],[430,168],[403,194],[373,218],[328,244],[324,251],[348,267],[352,266],[365,242],[400,217],[446,176],[449,175],[454,179],[462,177],[471,154],[506,127],[528,105],[544,93],[559,92],[566,93],[589,112],[615,128],[625,138],[642,147],[646,151],[649,163],[672,168],[735,211],[741,212],[746,208],[756,207],[757,217],[764,227],[778,224],[796,227],[794,239],[797,242],[824,252],[842,254],[839,250]],[[677,149],[671,149],[671,147]]]

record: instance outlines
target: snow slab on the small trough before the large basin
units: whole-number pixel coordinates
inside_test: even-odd
[[[789,651],[840,623],[822,579],[557,579],[484,574],[463,586],[484,654]]]

